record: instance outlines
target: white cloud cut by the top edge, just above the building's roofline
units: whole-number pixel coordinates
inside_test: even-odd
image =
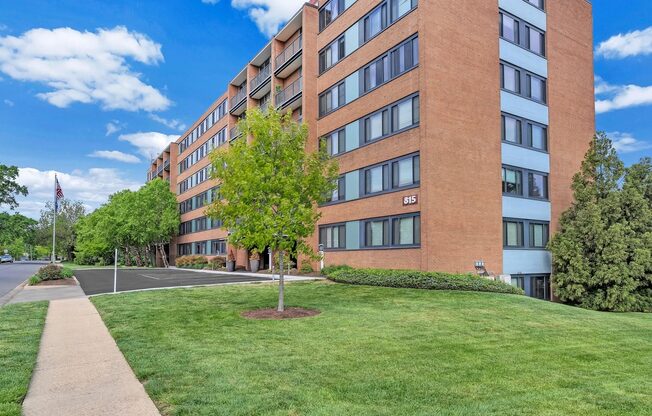
[[[212,0],[208,2],[212,3]],[[231,0],[231,5],[236,9],[247,10],[258,29],[272,37],[281,24],[287,22],[305,2],[306,0]]]

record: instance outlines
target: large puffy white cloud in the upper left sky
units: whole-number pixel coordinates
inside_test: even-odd
[[[105,110],[160,111],[171,104],[133,72],[127,59],[145,65],[163,61],[161,45],[123,26],[79,32],[71,28],[32,29],[0,37],[0,71],[51,91],[37,94],[65,108],[99,103]]]

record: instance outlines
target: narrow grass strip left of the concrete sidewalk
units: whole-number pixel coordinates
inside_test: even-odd
[[[21,414],[47,308],[47,302],[0,308],[0,415]]]

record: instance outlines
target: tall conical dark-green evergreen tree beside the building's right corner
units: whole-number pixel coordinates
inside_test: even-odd
[[[638,229],[644,226],[628,220],[645,207],[640,193],[627,197],[621,190],[624,173],[611,141],[598,133],[573,178],[575,201],[550,243],[555,292],[563,302],[610,311],[632,310],[637,302],[639,263],[646,261]]]

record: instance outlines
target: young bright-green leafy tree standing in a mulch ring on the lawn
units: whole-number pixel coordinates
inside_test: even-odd
[[[211,155],[222,199],[207,213],[223,221],[231,233],[229,243],[236,247],[311,255],[305,239],[320,217],[317,204],[335,188],[337,164],[323,148],[306,151],[307,126],[289,113],[249,111],[239,127],[243,138]],[[278,311],[283,310],[281,267]]]

